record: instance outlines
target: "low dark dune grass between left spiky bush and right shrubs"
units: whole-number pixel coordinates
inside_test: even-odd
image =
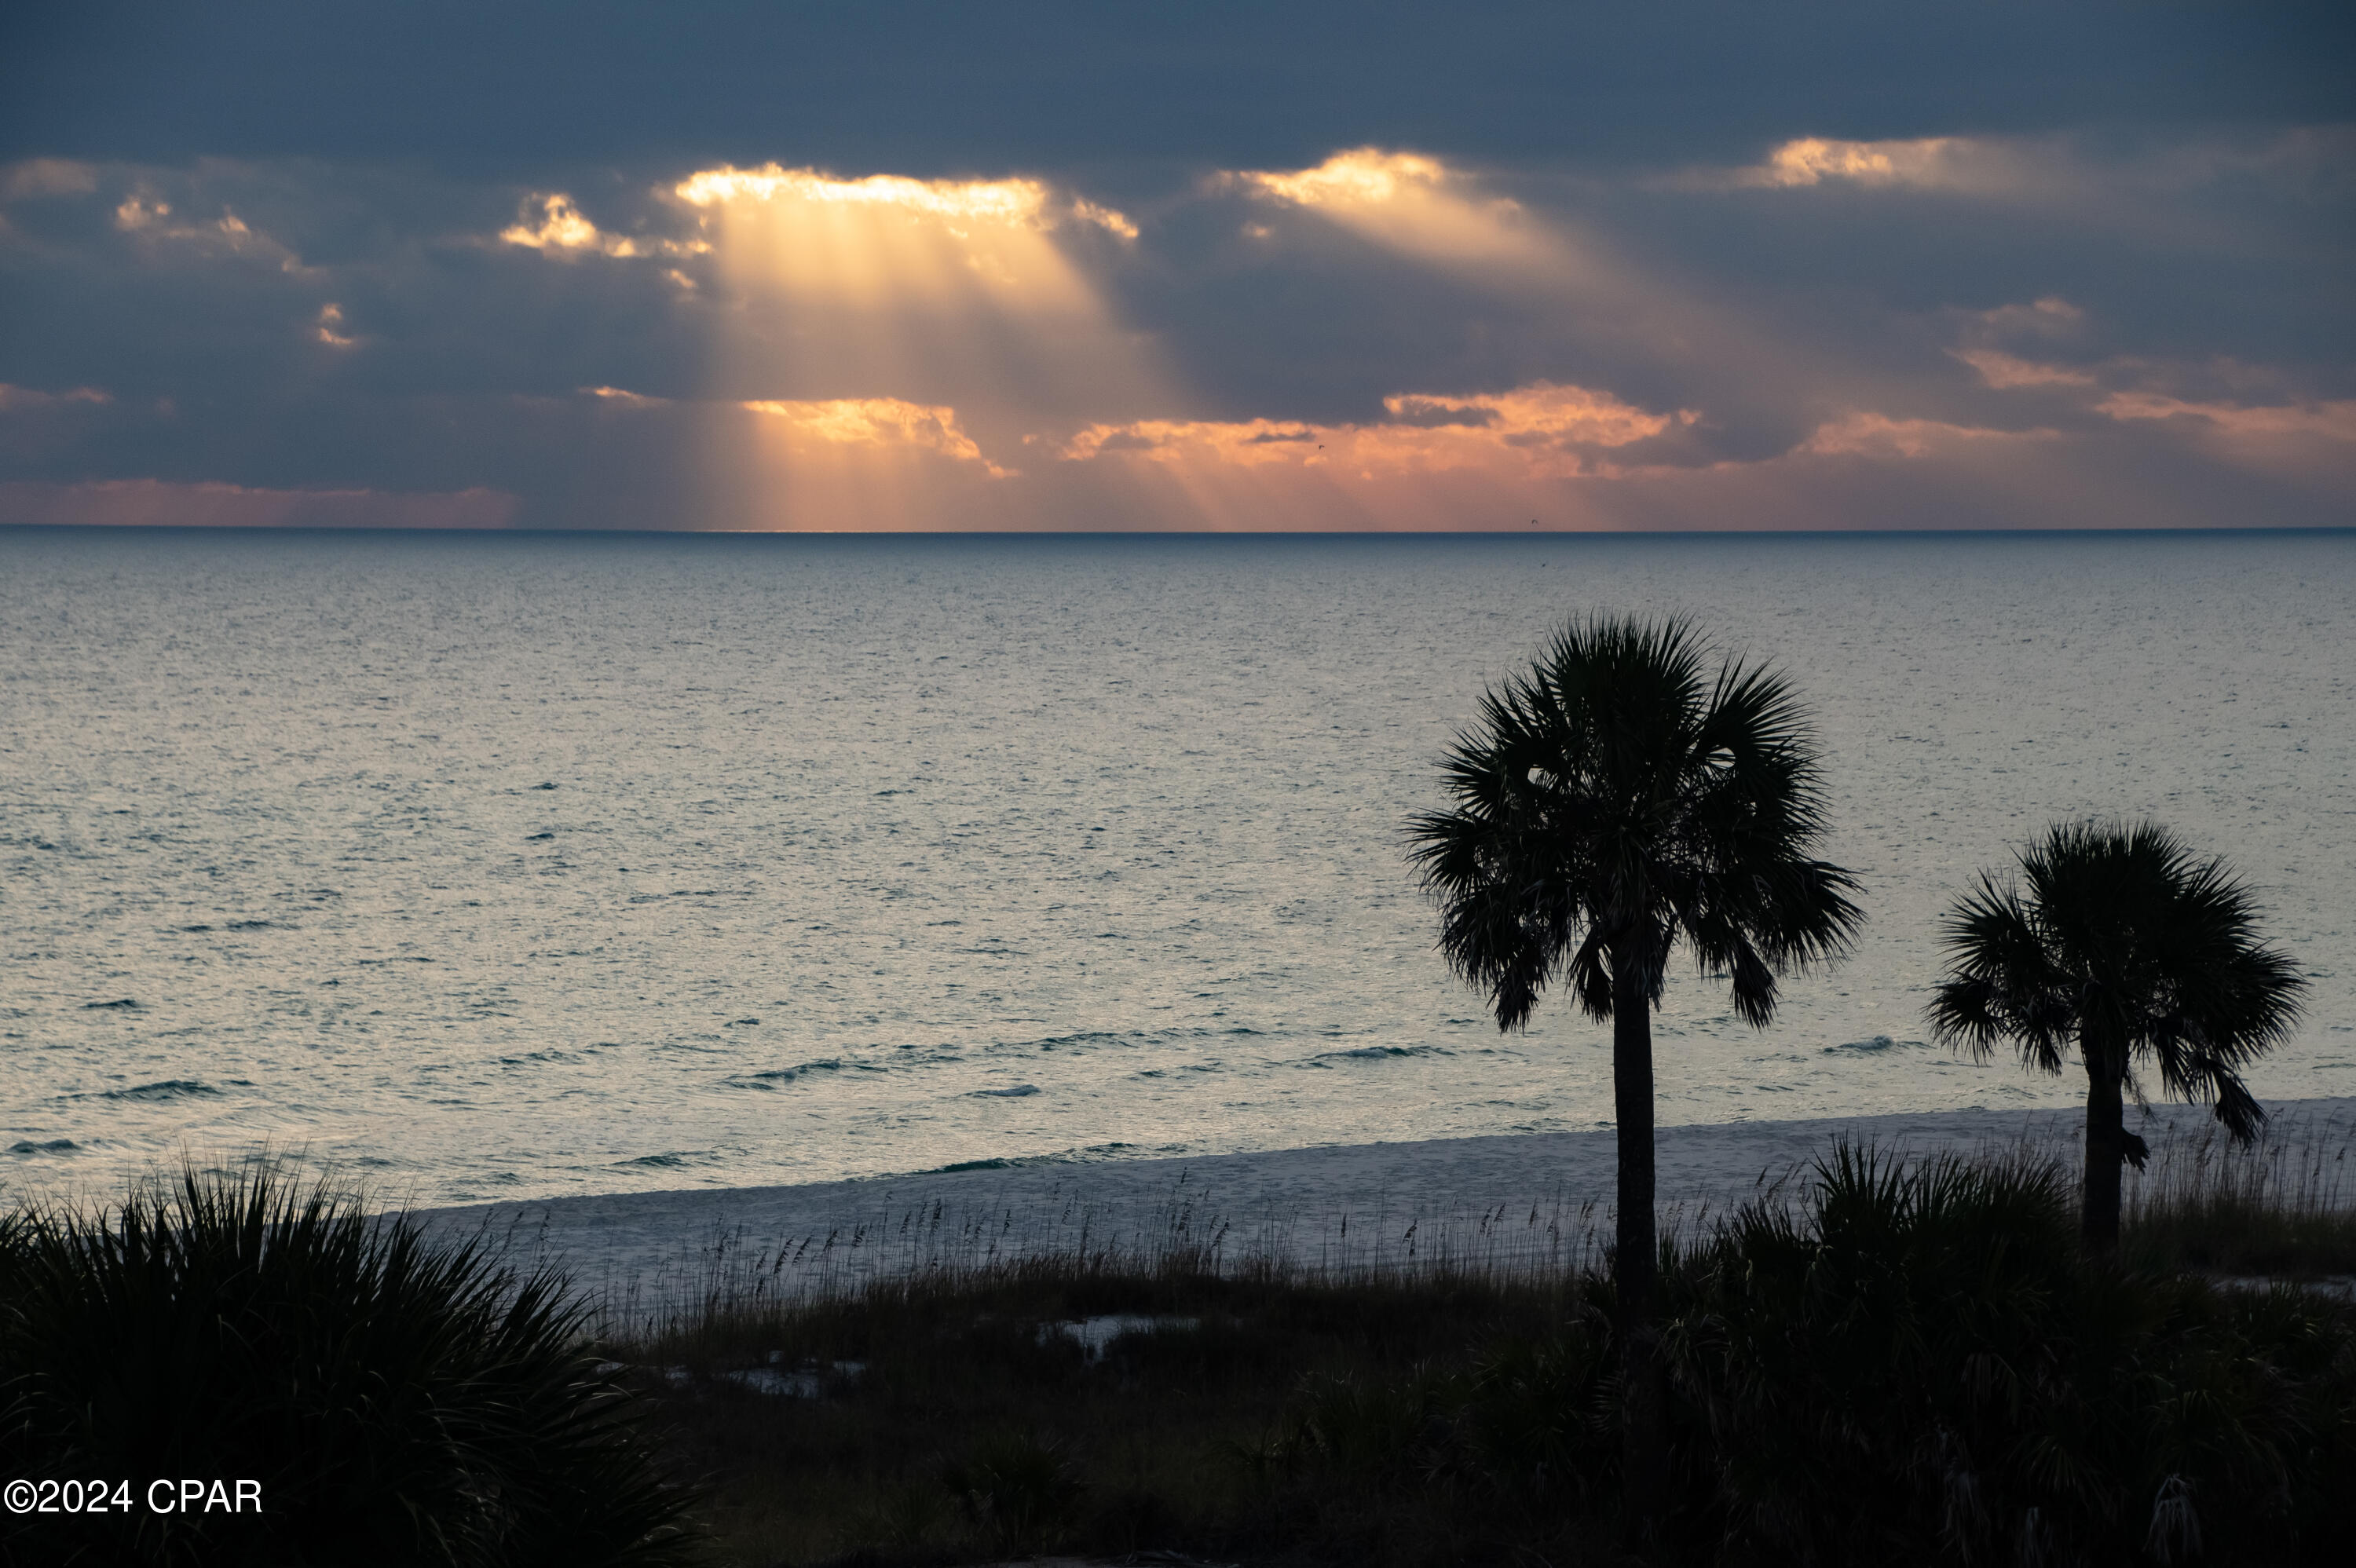
[[[1480,1342],[1543,1335],[1574,1295],[1569,1281],[1442,1269],[1213,1274],[1098,1253],[719,1311],[615,1354],[641,1361],[681,1462],[707,1471],[723,1561],[1348,1556],[1392,1511],[1355,1495],[1326,1507],[1268,1460],[1303,1382],[1463,1375]],[[1143,1323],[1091,1356],[1091,1318]],[[770,1370],[818,1396],[742,1380]],[[1444,1523],[1421,1500],[1390,1519]]]

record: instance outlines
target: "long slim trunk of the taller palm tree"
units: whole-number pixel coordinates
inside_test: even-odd
[[[1619,1121],[1619,1253],[1614,1276],[1626,1375],[1628,1523],[1652,1535],[1668,1511],[1668,1410],[1661,1375],[1656,1302],[1652,1149],[1652,996],[1642,965],[1612,958],[1612,1107]]]

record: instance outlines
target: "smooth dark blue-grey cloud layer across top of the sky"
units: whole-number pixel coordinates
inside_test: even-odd
[[[528,177],[766,160],[912,174],[1739,160],[1812,132],[2290,125],[2356,108],[2337,2],[1114,7],[28,0],[0,153],[311,155]]]

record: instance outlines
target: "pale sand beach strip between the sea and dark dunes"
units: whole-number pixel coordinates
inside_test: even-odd
[[[2347,1196],[2356,1097],[2266,1107],[2262,1144],[2231,1158],[2269,1163],[2278,1182]],[[2184,1180],[2226,1158],[2201,1107],[2130,1111],[2151,1144],[2137,1184]],[[1670,1224],[1783,1182],[1835,1140],[1920,1158],[2076,1156],[2073,1111],[1941,1111],[1816,1121],[1746,1121],[1659,1130],[1659,1191]],[[565,1267],[624,1311],[657,1311],[714,1283],[792,1290],[895,1269],[980,1264],[1027,1253],[1157,1253],[1209,1245],[1223,1260],[1284,1257],[1359,1269],[1458,1262],[1576,1262],[1609,1231],[1614,1132],[1463,1137],[1204,1158],[1023,1163],[822,1182],[638,1191],[419,1210],[441,1234],[488,1231],[521,1255]]]

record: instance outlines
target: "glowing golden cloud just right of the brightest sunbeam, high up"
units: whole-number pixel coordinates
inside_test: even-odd
[[[1520,202],[1484,195],[1472,177],[1423,153],[1362,146],[1310,170],[1230,170],[1213,186],[1315,212],[1430,261],[1560,259],[1555,235]]]

